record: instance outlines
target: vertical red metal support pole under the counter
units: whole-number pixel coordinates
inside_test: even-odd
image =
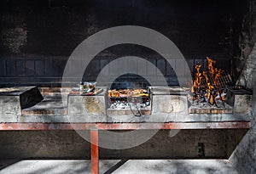
[[[90,172],[91,174],[99,174],[99,134],[98,130],[90,130]]]

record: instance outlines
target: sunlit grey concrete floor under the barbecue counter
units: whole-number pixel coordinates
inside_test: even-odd
[[[0,174],[44,173],[90,173],[90,160],[0,161]],[[101,160],[100,173],[239,174],[229,160]]]

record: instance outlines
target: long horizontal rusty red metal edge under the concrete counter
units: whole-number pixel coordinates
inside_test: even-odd
[[[168,123],[0,123],[0,131],[44,130],[152,130],[152,129],[247,129],[248,121]]]

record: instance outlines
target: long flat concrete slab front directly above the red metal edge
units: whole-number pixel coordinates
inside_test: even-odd
[[[12,121],[1,122],[39,122],[39,123],[69,123],[69,122],[98,122],[98,123],[153,123],[153,122],[249,122],[247,115],[230,114],[189,114],[189,115],[20,115]]]

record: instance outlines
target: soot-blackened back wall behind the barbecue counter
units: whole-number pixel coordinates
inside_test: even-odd
[[[191,72],[206,56],[236,78],[241,31],[249,1],[1,1],[1,84],[57,85],[68,56],[88,36],[118,25],[140,25],[159,31],[177,45]],[[125,44],[103,50],[90,63],[84,80],[96,80],[105,65],[126,55],[143,57],[178,85],[171,65],[158,53]],[[157,76],[150,74],[148,76]],[[173,80],[174,79],[174,80]]]

